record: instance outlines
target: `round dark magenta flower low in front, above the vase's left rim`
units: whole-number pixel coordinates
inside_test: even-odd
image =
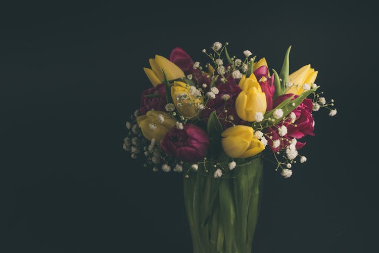
[[[161,147],[181,161],[195,162],[206,156],[209,144],[208,134],[203,129],[194,124],[184,124],[182,130],[174,126],[163,138]]]

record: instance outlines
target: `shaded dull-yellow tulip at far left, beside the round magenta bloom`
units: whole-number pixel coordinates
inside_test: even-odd
[[[154,138],[160,142],[166,133],[174,127],[176,119],[167,112],[152,110],[148,111],[146,115],[138,116],[137,124],[146,139],[151,141]]]

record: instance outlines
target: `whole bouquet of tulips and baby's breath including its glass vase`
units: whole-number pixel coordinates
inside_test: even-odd
[[[281,70],[246,50],[230,57],[227,43],[203,50],[210,63],[194,62],[180,48],[156,55],[144,68],[153,87],[126,122],[124,150],[145,158],[154,172],[182,172],[184,201],[194,252],[251,252],[263,177],[263,151],[276,170],[292,175],[313,135],[312,113],[332,109],[310,64],[289,74],[287,50]]]

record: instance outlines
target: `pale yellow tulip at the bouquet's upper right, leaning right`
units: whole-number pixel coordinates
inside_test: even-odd
[[[296,70],[288,77],[288,81],[292,82],[292,87],[286,92],[286,94],[300,95],[304,92],[303,85],[307,83],[309,86],[316,80],[318,71],[314,71],[311,65],[305,65]]]

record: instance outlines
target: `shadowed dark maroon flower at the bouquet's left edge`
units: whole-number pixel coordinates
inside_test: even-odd
[[[146,95],[159,95],[157,97],[145,97]],[[160,83],[156,87],[145,90],[141,95],[141,104],[139,111],[142,115],[154,109],[157,111],[164,111],[166,105],[166,88]]]

